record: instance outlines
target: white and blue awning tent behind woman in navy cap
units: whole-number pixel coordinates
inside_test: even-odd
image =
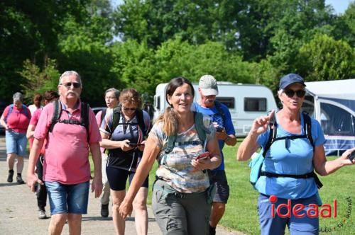
[[[302,109],[324,132],[327,155],[355,147],[355,79],[306,82]]]

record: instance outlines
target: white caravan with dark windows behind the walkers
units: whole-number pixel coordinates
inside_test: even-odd
[[[248,134],[253,120],[261,115],[267,115],[268,110],[276,109],[273,93],[266,86],[255,84],[232,84],[231,82],[219,81],[219,95],[217,101],[224,103],[231,112],[231,120],[238,137]],[[198,84],[192,84],[195,88],[195,98],[200,98]],[[165,100],[165,89],[168,84],[159,84],[155,88],[154,96],[154,119],[164,112],[168,103]]]

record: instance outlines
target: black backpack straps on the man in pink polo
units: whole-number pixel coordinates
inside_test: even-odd
[[[89,108],[90,108],[89,104],[82,102],[82,111],[80,114],[82,120],[78,121],[78,120],[60,120],[60,114],[62,113],[62,103],[60,103],[59,99],[57,101],[53,101],[53,103],[54,103],[54,113],[48,131],[53,132],[54,125],[57,124],[57,122],[62,122],[70,125],[82,125],[87,130],[87,138],[89,139]]]

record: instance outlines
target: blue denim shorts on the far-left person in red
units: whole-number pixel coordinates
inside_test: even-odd
[[[26,133],[6,130],[5,139],[6,154],[17,154],[18,156],[25,156],[27,146]]]

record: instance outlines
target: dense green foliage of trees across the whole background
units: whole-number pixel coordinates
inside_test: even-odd
[[[336,15],[324,0],[6,0],[0,2],[0,98],[55,89],[82,75],[82,98],[133,86],[150,97],[175,76],[264,84],[355,74],[355,3]]]

